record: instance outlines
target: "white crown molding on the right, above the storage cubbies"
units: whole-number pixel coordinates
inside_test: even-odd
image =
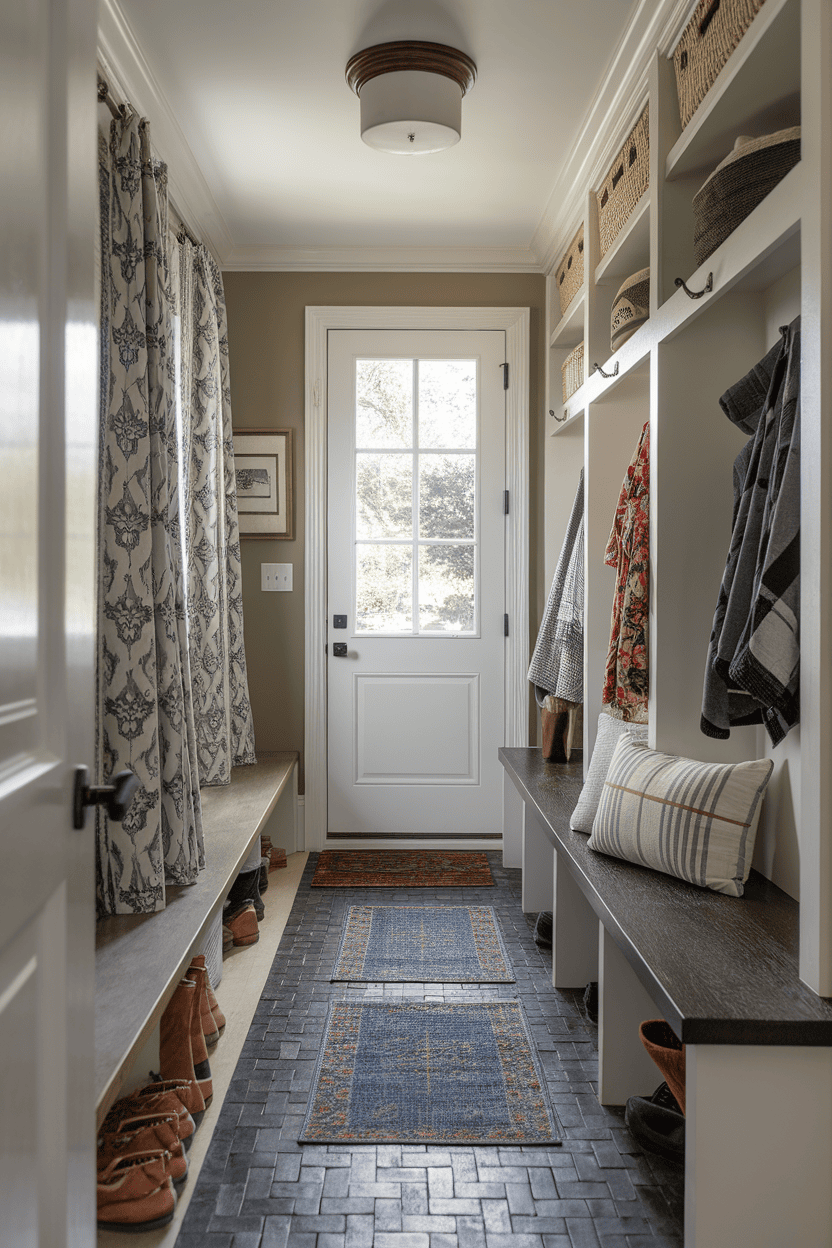
[[[584,218],[588,190],[597,186],[647,101],[647,74],[659,49],[670,54],[696,0],[640,0],[606,67],[564,168],[555,182],[531,250],[550,273]]]

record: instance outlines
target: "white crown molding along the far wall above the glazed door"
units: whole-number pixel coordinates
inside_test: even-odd
[[[540,273],[528,247],[232,247],[223,271]]]

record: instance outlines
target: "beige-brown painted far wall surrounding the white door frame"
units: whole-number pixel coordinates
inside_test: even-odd
[[[530,623],[543,584],[545,280],[534,273],[225,273],[235,429],[292,428],[293,542],[243,540],[246,654],[257,746],[299,750],[303,776],[303,317],[307,305],[531,310]],[[264,594],[261,563],[292,563],[294,590]],[[530,723],[536,718],[530,713]],[[535,738],[533,738],[534,740]],[[302,781],[303,782],[303,781]],[[302,790],[303,791],[303,790]]]

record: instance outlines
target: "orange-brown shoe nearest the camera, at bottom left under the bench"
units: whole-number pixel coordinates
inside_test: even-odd
[[[100,1231],[158,1231],[173,1221],[176,1192],[165,1149],[116,1157],[99,1174]]]

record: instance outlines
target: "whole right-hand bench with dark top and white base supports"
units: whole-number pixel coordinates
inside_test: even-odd
[[[500,761],[504,857],[523,909],[553,911],[553,983],[599,981],[599,1101],[660,1082],[642,1020],[687,1046],[686,1248],[828,1248],[832,1001],[798,977],[797,902],[755,871],[736,899],[596,854],[569,827],[579,764]]]

